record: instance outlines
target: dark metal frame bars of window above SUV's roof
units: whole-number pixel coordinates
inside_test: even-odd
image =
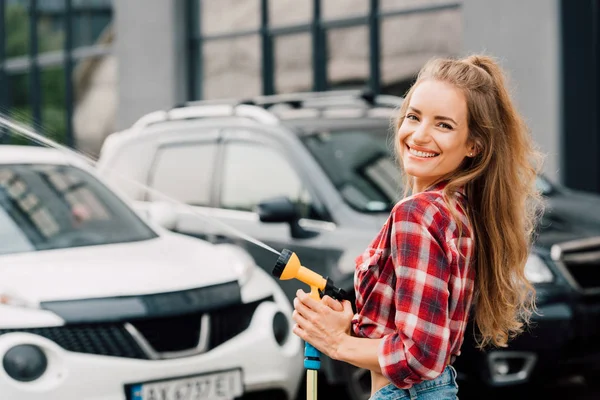
[[[277,1],[277,0],[275,0]],[[367,0],[365,0],[367,1]],[[380,73],[380,26],[385,18],[400,15],[434,13],[443,10],[460,8],[459,2],[445,4],[434,4],[421,7],[404,8],[392,11],[381,11],[379,0],[368,0],[369,11],[366,15],[352,16],[335,20],[324,20],[322,18],[322,1],[312,0],[312,21],[304,24],[289,26],[271,26],[269,21],[269,0],[260,0],[260,27],[251,30],[239,30],[222,34],[207,35],[202,33],[201,13],[202,0],[187,0],[186,21],[188,32],[188,70],[189,85],[188,98],[198,100],[203,98],[203,46],[209,41],[222,41],[232,38],[260,35],[261,38],[261,70],[262,70],[262,93],[274,94],[275,88],[275,54],[273,42],[275,38],[308,33],[312,41],[312,89],[323,91],[328,89],[327,79],[327,41],[326,33],[329,30],[349,28],[357,26],[368,26],[369,30],[369,78],[368,88],[374,92],[381,91]]]

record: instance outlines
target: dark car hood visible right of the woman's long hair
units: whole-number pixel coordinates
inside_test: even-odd
[[[538,246],[600,236],[600,196],[564,191],[546,198],[546,209],[539,224]]]

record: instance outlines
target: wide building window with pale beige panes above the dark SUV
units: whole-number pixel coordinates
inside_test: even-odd
[[[187,0],[189,100],[338,88],[404,95],[429,58],[461,51],[460,2],[347,3]]]

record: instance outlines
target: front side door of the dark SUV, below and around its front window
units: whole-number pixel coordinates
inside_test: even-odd
[[[323,217],[309,177],[304,176],[302,169],[287,157],[284,146],[261,132],[229,129],[223,131],[222,138],[215,173],[217,207],[208,212],[206,209],[199,210],[223,224],[213,224],[211,234],[214,240],[232,241],[243,246],[268,273],[272,272],[278,254],[261,246],[261,243],[276,252],[290,249],[299,256],[303,265],[329,276],[332,267],[337,265],[339,249],[327,245],[332,241],[324,239],[334,234],[336,226]],[[256,206],[276,196],[285,196],[297,206],[302,217],[300,224],[312,232],[312,237],[293,237],[288,223],[259,220]],[[179,224],[180,231],[194,235],[200,229],[202,226],[198,220],[193,222],[189,219],[185,225]],[[247,238],[239,237],[236,232]],[[253,243],[252,239],[261,243]],[[297,281],[281,282],[281,286],[290,299],[302,287]]]

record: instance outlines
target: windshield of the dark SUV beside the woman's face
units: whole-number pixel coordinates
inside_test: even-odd
[[[321,131],[303,136],[302,141],[354,209],[385,212],[400,199],[400,169],[385,130]]]

